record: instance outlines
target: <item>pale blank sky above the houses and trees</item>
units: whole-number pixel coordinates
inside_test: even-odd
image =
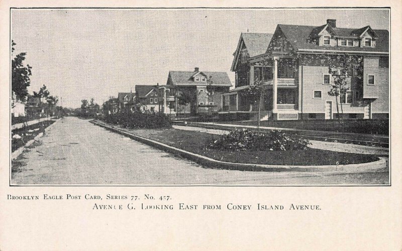
[[[13,9],[13,56],[26,52],[30,93],[45,84],[65,107],[102,104],[137,84],[166,84],[169,70],[230,72],[242,32],[277,24],[389,30],[378,9]],[[59,103],[60,104],[60,103]]]

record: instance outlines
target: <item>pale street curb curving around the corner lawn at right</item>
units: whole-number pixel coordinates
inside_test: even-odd
[[[139,141],[146,145],[155,147],[157,149],[178,154],[181,157],[186,159],[192,160],[200,165],[207,166],[210,168],[219,168],[219,169],[228,169],[228,170],[241,170],[241,171],[298,171],[298,172],[312,172],[312,171],[345,171],[345,169],[367,169],[372,170],[374,167],[375,169],[379,169],[385,167],[386,161],[384,159],[379,159],[378,161],[370,162],[370,163],[361,163],[361,164],[349,164],[349,165],[326,165],[326,166],[286,166],[286,165],[262,165],[262,164],[243,164],[243,163],[231,163],[231,162],[224,162],[214,160],[212,158],[194,154],[187,152],[185,150],[181,150],[175,147],[168,146],[166,144],[150,140],[147,138],[143,138],[140,136],[133,135],[131,133],[125,132],[121,129],[116,127],[107,126],[106,124],[99,123],[97,121],[89,121],[93,124],[96,124],[99,127],[103,127],[110,131],[119,133],[126,137],[129,137],[133,140]],[[362,171],[362,170],[359,170]]]

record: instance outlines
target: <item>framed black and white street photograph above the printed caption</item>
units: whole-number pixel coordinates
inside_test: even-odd
[[[390,186],[390,8],[11,8],[11,186]]]

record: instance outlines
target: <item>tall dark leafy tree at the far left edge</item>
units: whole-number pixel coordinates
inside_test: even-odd
[[[12,52],[16,43],[12,41]],[[22,101],[26,100],[28,95],[27,87],[31,84],[30,76],[32,75],[32,67],[27,64],[24,66],[25,56],[27,54],[22,52],[15,56],[11,62],[11,86],[16,98]]]

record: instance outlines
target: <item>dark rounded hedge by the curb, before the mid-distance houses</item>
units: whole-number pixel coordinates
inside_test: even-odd
[[[121,112],[108,114],[103,120],[108,123],[119,124],[125,128],[159,129],[170,128],[170,119],[162,112]]]

